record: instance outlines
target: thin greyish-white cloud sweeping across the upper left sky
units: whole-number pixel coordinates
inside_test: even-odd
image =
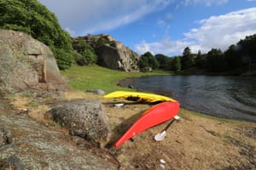
[[[54,11],[61,26],[78,35],[108,31],[166,8],[172,0],[39,0]]]

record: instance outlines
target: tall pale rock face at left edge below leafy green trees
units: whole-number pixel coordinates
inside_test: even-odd
[[[0,29],[0,60],[2,91],[70,89],[50,49],[26,33]]]

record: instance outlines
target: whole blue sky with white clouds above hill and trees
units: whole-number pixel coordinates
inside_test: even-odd
[[[73,37],[107,33],[144,54],[223,51],[256,33],[256,0],[39,0]]]

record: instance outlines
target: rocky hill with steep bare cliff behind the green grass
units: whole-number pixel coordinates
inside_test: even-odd
[[[115,41],[110,35],[99,34],[76,37],[74,42],[81,39],[95,49],[99,58],[99,65],[120,71],[139,71],[137,65],[139,55],[130,48],[125,47],[122,42]]]

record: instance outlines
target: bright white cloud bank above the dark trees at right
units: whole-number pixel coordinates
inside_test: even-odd
[[[212,16],[198,21],[200,26],[184,33],[183,40],[173,41],[164,38],[160,42],[141,42],[136,45],[138,53],[143,54],[143,48],[160,54],[182,54],[189,47],[193,53],[201,50],[207,53],[211,48],[223,51],[231,44],[248,35],[256,33],[256,8],[247,8],[229,14]]]

